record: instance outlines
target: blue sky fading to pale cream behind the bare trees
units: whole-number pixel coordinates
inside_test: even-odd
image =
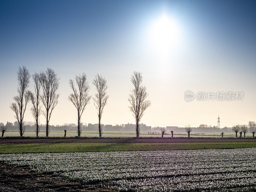
[[[256,121],[254,1],[0,1],[0,122],[14,122],[16,71],[52,68],[60,80],[50,124],[76,123],[70,78],[83,72],[95,94],[108,81],[103,124],[135,123],[128,95],[140,71],[151,106],[141,123],[231,127]],[[33,81],[30,79],[30,90]],[[187,102],[186,91],[195,94]],[[198,92],[244,92],[242,101],[198,101]],[[28,104],[28,109],[31,103]],[[33,121],[29,110],[25,121]],[[82,122],[96,124],[93,100]],[[40,118],[42,124],[45,117]]]

